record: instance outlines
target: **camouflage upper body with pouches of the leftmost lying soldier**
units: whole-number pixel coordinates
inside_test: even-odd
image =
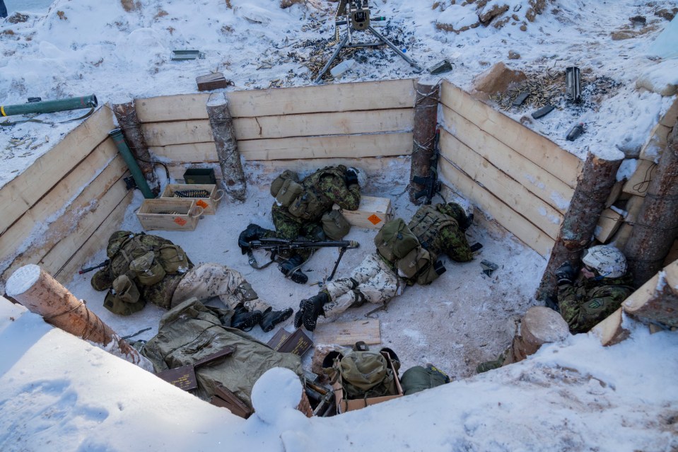
[[[109,264],[92,277],[91,284],[99,291],[110,289],[104,306],[120,315],[139,311],[146,304],[144,295],[152,293],[148,289],[168,275],[182,274],[193,267],[179,245],[143,232],[112,233],[106,255]]]

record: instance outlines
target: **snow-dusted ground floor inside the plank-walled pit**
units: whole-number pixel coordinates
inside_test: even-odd
[[[406,185],[394,184],[394,180],[407,180],[409,163],[392,168],[389,175],[371,175],[365,195],[390,197],[394,214],[409,220],[416,206],[409,202]],[[401,177],[402,176],[402,177]],[[303,270],[309,276],[305,285],[284,279],[276,265],[264,270],[255,270],[247,263],[247,256],[240,253],[238,234],[250,222],[272,228],[270,207],[273,201],[268,185],[253,185],[265,182],[267,176],[250,177],[247,200],[244,203],[228,202],[225,198],[214,216],[204,216],[193,232],[148,231],[178,243],[186,250],[194,263],[218,262],[242,272],[262,299],[274,308],[292,307],[295,311],[302,299],[320,290],[318,282],[332,272],[337,259],[336,248],[324,248],[306,263]],[[445,193],[451,201],[453,194]],[[141,202],[141,199],[136,199]],[[463,204],[465,200],[457,199]],[[436,197],[433,202],[441,202]],[[469,205],[469,204],[467,204]],[[140,231],[134,208],[128,209],[122,228]],[[481,361],[495,359],[508,347],[519,319],[530,306],[546,261],[523,243],[508,235],[494,221],[476,211],[474,224],[467,231],[469,243],[480,242],[484,246],[472,262],[459,264],[445,258],[447,272],[429,286],[407,287],[401,296],[390,302],[387,311],[378,311],[372,317],[380,321],[382,343],[373,349],[389,347],[402,362],[402,371],[411,366],[433,363],[450,377],[460,379],[475,373]],[[376,229],[353,227],[346,240],[358,241],[361,246],[347,250],[337,270],[341,277],[375,250],[373,238]],[[104,250],[92,262],[105,257]],[[266,262],[263,251],[256,254],[259,263]],[[491,277],[483,273],[480,261],[495,262],[498,270]],[[113,315],[103,308],[103,292],[91,289],[89,279],[93,273],[77,276],[69,289],[86,299],[90,309],[98,313],[119,335],[130,335],[144,328],[151,328],[134,337],[148,340],[158,328],[158,320],[164,311],[147,305],[144,310],[129,317]],[[312,284],[315,283],[315,284]],[[351,308],[337,319],[338,322],[368,320],[365,314],[375,305],[366,303],[360,308]],[[323,328],[322,317],[316,332]],[[293,331],[292,318],[281,326]],[[277,328],[276,328],[277,330]],[[257,339],[267,342],[274,332],[264,333],[260,328],[250,332]],[[312,338],[313,334],[307,332]],[[320,345],[320,344],[315,344]],[[305,354],[303,363],[310,369],[313,352]]]

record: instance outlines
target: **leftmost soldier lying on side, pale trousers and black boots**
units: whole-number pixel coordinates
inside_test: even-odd
[[[240,272],[212,263],[194,267],[182,248],[165,238],[116,231],[106,253],[109,263],[94,274],[91,284],[98,291],[108,290],[104,306],[112,313],[130,315],[147,302],[171,309],[191,297],[218,297],[230,310],[225,324],[240,330],[259,325],[270,331],[292,315],[291,308],[273,311]]]

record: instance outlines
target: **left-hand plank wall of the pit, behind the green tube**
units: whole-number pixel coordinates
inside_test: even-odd
[[[131,201],[127,166],[99,108],[0,189],[0,289],[18,267],[37,264],[69,282],[103,248]]]

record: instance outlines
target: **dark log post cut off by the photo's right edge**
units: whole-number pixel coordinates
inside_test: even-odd
[[[678,237],[678,122],[657,163],[645,202],[633,225],[624,255],[633,284],[643,285],[662,268]]]

